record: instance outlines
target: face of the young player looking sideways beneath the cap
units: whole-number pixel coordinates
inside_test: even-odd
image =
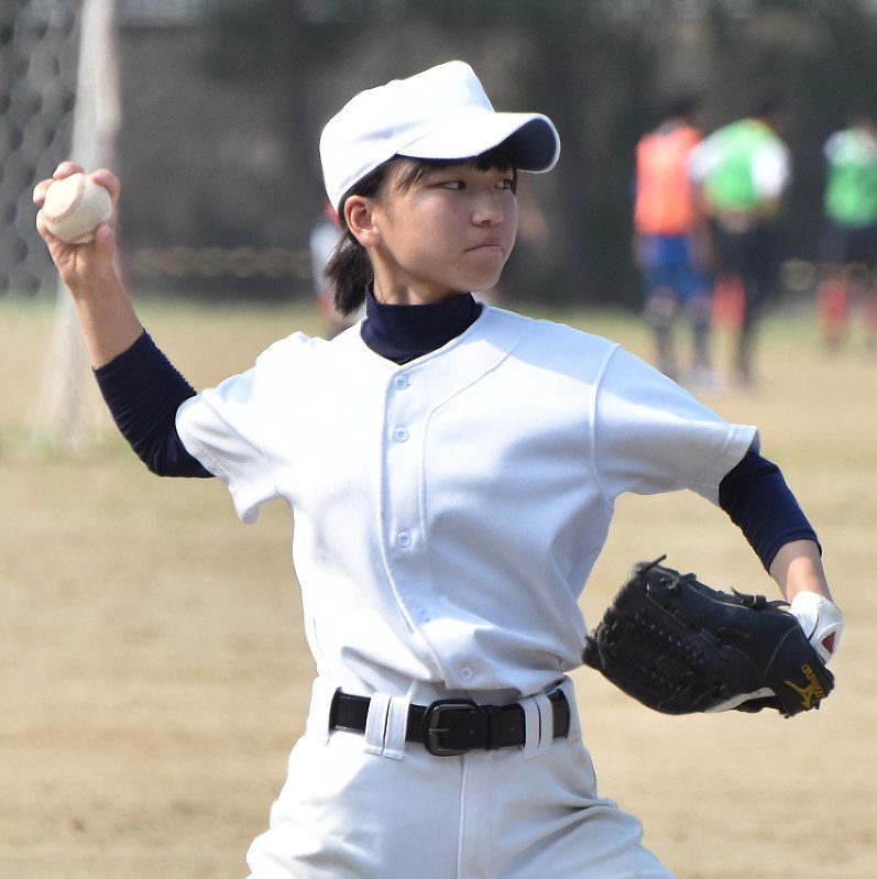
[[[493,287],[517,231],[513,169],[464,162],[401,186],[409,171],[393,168],[375,206],[375,298],[423,305]]]

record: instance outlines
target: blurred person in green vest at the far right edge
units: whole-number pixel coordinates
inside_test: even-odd
[[[862,312],[865,344],[877,352],[877,118],[854,111],[825,142],[825,221],[816,311],[822,338],[838,348],[849,311]]]

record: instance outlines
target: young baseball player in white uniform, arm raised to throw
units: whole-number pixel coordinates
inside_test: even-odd
[[[668,877],[598,793],[567,677],[615,501],[720,504],[827,658],[841,622],[815,535],[754,427],[613,342],[470,293],[514,244],[518,173],[558,158],[546,117],[495,112],[450,62],[355,96],[320,149],[344,229],[338,305],[365,317],[331,341],[294,333],[199,394],[132,308],[114,221],[72,246],[37,217],[141,458],[218,476],[244,521],[275,497],[294,513],[318,677],[251,875]]]

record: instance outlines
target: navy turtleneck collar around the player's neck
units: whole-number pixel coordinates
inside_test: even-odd
[[[387,305],[369,293],[362,340],[382,358],[407,363],[456,339],[481,314],[471,293],[431,305]]]

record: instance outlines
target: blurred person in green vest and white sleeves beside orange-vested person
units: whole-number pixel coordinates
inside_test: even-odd
[[[791,179],[786,124],[785,106],[769,98],[691,155],[692,179],[713,229],[716,281],[741,292],[732,378],[744,386],[754,382],[755,332],[779,279],[776,220]]]

